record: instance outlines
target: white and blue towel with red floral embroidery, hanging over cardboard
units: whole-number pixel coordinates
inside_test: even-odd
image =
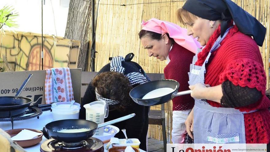
[[[73,100],[73,89],[69,68],[46,69],[46,103]]]

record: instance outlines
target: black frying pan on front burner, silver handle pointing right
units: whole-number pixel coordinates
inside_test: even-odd
[[[95,134],[96,130],[100,127],[118,123],[120,121],[130,119],[134,116],[135,114],[133,113],[130,115],[120,117],[118,119],[108,121],[106,123],[101,123],[99,125],[93,121],[84,120],[84,119],[57,120],[57,121],[53,121],[51,123],[46,124],[45,127],[43,127],[42,132],[43,132],[43,135],[47,139],[53,138],[58,141],[62,141],[66,143],[81,142],[82,140],[87,140],[88,138],[92,137]],[[89,129],[89,131],[76,132],[76,133],[57,132],[62,129],[81,129],[81,128],[87,128]]]

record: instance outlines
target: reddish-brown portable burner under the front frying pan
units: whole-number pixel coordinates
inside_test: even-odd
[[[49,139],[40,146],[41,152],[69,151],[69,152],[103,152],[103,142],[97,138],[88,138],[81,142],[66,143],[56,139]]]

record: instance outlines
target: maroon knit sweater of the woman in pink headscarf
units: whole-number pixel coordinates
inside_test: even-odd
[[[169,53],[170,62],[164,68],[165,79],[179,82],[179,91],[189,90],[188,74],[192,58],[195,54],[174,43]],[[190,95],[181,95],[172,99],[172,110],[188,110],[193,108],[194,99]]]

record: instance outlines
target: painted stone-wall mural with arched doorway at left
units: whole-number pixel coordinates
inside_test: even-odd
[[[41,70],[41,42],[41,34],[36,33],[0,35],[0,71],[8,71],[7,65],[12,71]],[[43,68],[77,68],[79,45],[80,41],[43,35]]]

